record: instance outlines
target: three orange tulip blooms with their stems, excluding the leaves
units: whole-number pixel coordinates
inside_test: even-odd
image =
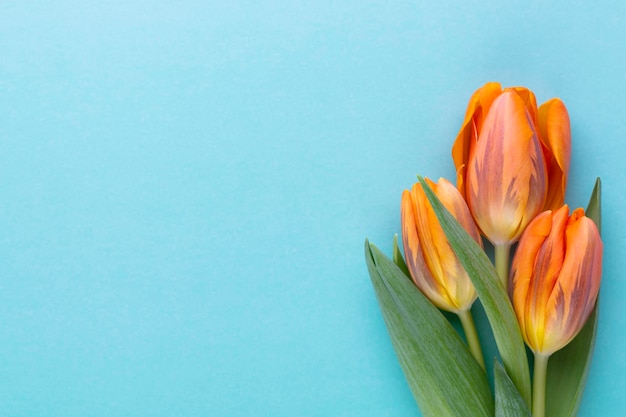
[[[535,354],[532,415],[543,417],[548,357],[585,325],[602,275],[598,227],[582,208],[570,212],[564,204],[571,159],[567,109],[557,98],[538,107],[529,89],[488,83],[469,101],[452,159],[456,187],[426,179],[402,194],[406,268],[434,306],[460,317],[484,369],[470,313],[477,291],[427,187],[477,245],[482,248],[482,235],[494,246],[495,281]]]

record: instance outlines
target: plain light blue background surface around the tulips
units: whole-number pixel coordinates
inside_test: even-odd
[[[54,4],[53,4],[54,3]],[[487,81],[603,180],[581,416],[626,415],[626,5],[3,1],[0,413],[415,416],[364,264]]]

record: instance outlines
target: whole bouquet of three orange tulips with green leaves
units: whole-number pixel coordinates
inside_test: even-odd
[[[576,415],[595,341],[602,241],[599,179],[586,211],[564,204],[570,155],[561,100],[537,107],[526,88],[488,83],[471,97],[452,147],[456,187],[418,177],[402,194],[404,256],[397,237],[392,259],[365,242],[424,416]],[[497,346],[489,367],[477,299]]]

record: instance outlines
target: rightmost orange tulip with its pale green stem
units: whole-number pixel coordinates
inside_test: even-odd
[[[533,416],[542,417],[549,356],[567,345],[593,311],[602,275],[595,223],[567,205],[537,216],[513,260],[510,295],[522,336],[535,353]]]

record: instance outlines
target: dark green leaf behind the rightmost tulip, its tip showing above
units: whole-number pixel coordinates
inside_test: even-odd
[[[601,183],[596,180],[587,206],[586,215],[600,230]],[[551,417],[574,417],[582,399],[598,327],[598,302],[578,336],[563,349],[550,357],[546,387],[546,415]]]

